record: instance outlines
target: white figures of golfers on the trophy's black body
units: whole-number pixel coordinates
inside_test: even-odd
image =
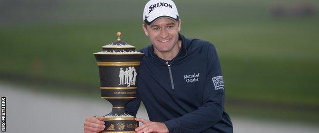
[[[136,73],[134,66],[129,66],[128,68],[124,68],[124,69],[120,68],[119,85],[127,85],[127,87],[131,85],[135,85],[136,76],[138,76],[138,73]]]

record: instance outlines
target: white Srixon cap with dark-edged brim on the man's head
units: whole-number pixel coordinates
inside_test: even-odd
[[[144,7],[144,23],[150,25],[161,17],[178,21],[178,11],[174,2],[171,0],[150,0]]]

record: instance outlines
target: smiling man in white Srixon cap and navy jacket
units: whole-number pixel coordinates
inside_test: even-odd
[[[126,112],[135,116],[143,101],[150,121],[136,132],[233,132],[224,111],[224,83],[215,47],[179,34],[181,20],[170,0],[151,0],[143,13],[143,30],[152,45],[140,66],[138,98]],[[88,117],[86,132],[105,128],[103,117]]]

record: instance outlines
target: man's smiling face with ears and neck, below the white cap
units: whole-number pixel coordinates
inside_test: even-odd
[[[163,56],[163,59],[167,56],[174,58],[177,55],[181,43],[178,41],[180,24],[180,19],[174,21],[169,18],[160,18],[151,25],[143,24],[145,35],[149,36],[154,51],[160,58]]]

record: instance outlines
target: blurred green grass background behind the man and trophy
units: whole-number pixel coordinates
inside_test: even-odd
[[[0,1],[0,80],[100,96],[93,53],[141,49],[147,1]],[[181,34],[217,48],[231,116],[319,123],[319,1],[175,1]]]

